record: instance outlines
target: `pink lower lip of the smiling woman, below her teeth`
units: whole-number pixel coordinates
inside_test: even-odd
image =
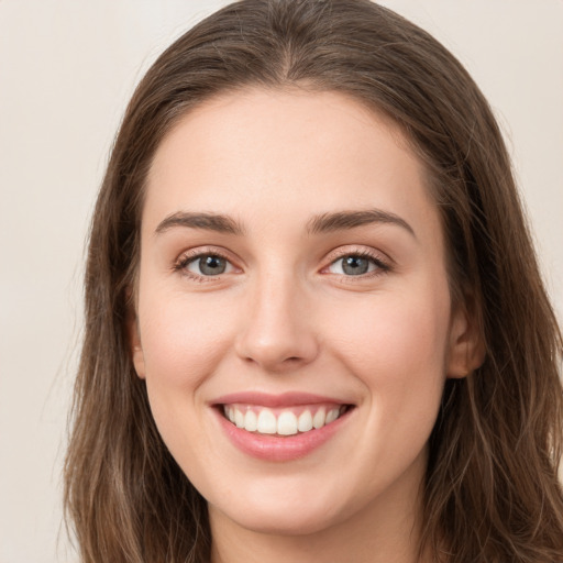
[[[247,432],[227,420],[216,409],[221,428],[231,442],[245,454],[268,462],[289,462],[309,455],[342,428],[352,410],[347,410],[325,427],[295,435],[278,437]]]

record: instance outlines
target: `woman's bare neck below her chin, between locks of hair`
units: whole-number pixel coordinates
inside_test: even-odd
[[[428,562],[428,554],[419,556],[420,484],[391,486],[351,517],[307,534],[250,530],[210,506],[211,563]]]

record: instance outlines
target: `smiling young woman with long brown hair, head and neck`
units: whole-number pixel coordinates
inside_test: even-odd
[[[172,45],[86,314],[85,562],[563,561],[562,340],[507,152],[395,13],[242,0]]]

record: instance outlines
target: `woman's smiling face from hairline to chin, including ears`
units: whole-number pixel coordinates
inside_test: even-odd
[[[415,510],[467,339],[422,166],[388,120],[331,92],[206,102],[156,153],[141,246],[135,368],[212,526]]]

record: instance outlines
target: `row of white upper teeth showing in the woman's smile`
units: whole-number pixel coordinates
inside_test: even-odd
[[[244,408],[246,411],[244,412]],[[262,408],[256,415],[256,409],[250,407],[233,407],[224,405],[223,412],[225,417],[238,428],[243,428],[247,432],[258,432],[261,434],[295,435],[298,432],[308,432],[319,429],[325,424],[334,422],[340,415],[341,408],[332,408],[327,412],[324,407],[320,407],[314,416],[311,409],[305,409],[299,417],[291,410],[283,410],[277,417],[267,408]]]

